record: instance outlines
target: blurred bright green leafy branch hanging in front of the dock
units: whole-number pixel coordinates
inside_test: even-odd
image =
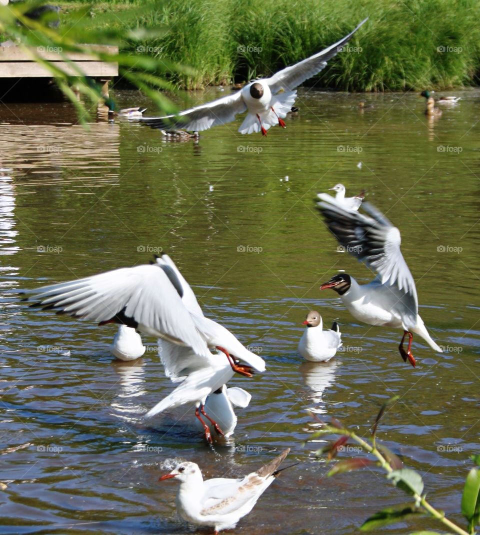
[[[72,55],[78,53],[88,56],[89,60],[118,64],[119,75],[151,97],[159,110],[166,114],[177,111],[176,106],[157,89],[176,91],[167,77],[179,72],[192,74],[191,68],[141,53],[142,47],[137,47],[136,53],[118,53],[95,46],[99,43],[120,45],[125,42],[141,42],[146,36],[160,40],[168,28],[162,26],[156,30],[145,29],[138,27],[137,21],[140,14],[160,9],[162,0],[145,2],[137,9],[130,9],[127,14],[122,13],[121,17],[116,15],[114,8],[110,9],[110,18],[115,19],[116,24],[103,28],[92,28],[95,16],[92,6],[69,13],[68,17],[62,19],[59,28],[49,25],[51,18],[48,13],[40,20],[29,18],[28,10],[42,3],[22,2],[0,6],[0,34],[10,37],[22,52],[49,71],[59,89],[77,109],[82,123],[85,123],[84,117],[88,116],[88,112],[85,104],[77,100],[72,86],[95,104],[106,103],[106,98],[102,95],[101,87],[93,83],[80,64],[71,59]],[[55,51],[56,60],[51,59],[51,55],[47,58],[43,53],[45,50]],[[113,106],[112,101],[109,105]]]

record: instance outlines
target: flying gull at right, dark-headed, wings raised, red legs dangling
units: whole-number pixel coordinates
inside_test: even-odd
[[[322,212],[328,228],[347,250],[369,268],[378,273],[369,284],[359,285],[348,275],[335,275],[320,289],[333,288],[351,315],[369,325],[385,325],[403,329],[399,345],[404,362],[407,358],[415,367],[411,342],[416,333],[431,348],[441,353],[432,340],[422,318],[418,315],[418,299],[415,281],[400,252],[400,231],[372,204],[364,203],[369,215],[345,210],[326,194],[319,194]],[[408,335],[408,349],[403,341]]]

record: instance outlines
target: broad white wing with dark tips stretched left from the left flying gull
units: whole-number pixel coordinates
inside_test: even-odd
[[[171,273],[174,273],[171,271]],[[173,280],[175,280],[172,277]],[[162,266],[140,265],[28,290],[32,306],[99,323],[124,323],[208,357],[205,339]]]

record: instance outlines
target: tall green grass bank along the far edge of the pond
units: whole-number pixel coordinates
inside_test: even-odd
[[[81,2],[61,3],[72,12]],[[141,6],[141,10],[138,7]],[[92,29],[128,24],[162,35],[123,44],[183,65],[185,88],[267,76],[337,41],[370,20],[317,80],[320,87],[355,91],[445,89],[477,84],[480,3],[477,0],[176,0],[103,2]]]

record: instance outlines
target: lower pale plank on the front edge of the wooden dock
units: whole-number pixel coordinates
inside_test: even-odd
[[[66,62],[51,62],[66,73],[77,76],[72,65]],[[73,62],[78,65],[86,76],[111,77],[118,76],[118,65],[105,62]],[[0,78],[53,78],[53,74],[43,65],[35,62],[2,62]]]

